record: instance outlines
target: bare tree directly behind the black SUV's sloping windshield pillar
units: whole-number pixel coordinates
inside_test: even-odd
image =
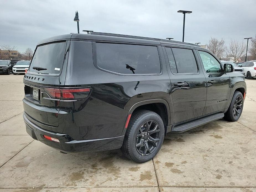
[[[206,44],[206,48],[213,52],[216,57],[220,58],[226,50],[225,40],[223,38],[218,40],[211,37],[209,42]]]

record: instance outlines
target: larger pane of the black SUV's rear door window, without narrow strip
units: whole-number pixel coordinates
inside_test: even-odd
[[[192,50],[172,48],[172,52],[178,73],[196,73],[198,71]]]

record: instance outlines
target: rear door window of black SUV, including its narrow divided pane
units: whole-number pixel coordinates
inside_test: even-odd
[[[171,71],[173,73],[197,73],[195,56],[191,49],[166,47]]]

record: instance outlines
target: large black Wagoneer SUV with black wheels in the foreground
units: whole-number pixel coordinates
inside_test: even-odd
[[[168,132],[241,116],[241,73],[198,45],[91,32],[46,39],[24,76],[24,120],[62,152],[152,159]]]

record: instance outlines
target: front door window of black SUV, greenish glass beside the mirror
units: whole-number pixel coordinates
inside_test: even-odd
[[[203,66],[207,73],[220,73],[222,72],[221,64],[210,53],[198,51],[203,62]],[[226,62],[224,62],[225,64]]]

